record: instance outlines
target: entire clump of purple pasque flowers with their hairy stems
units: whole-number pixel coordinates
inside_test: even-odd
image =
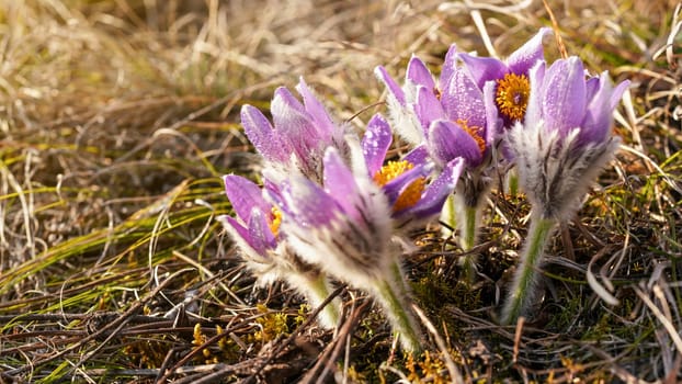
[[[245,132],[264,160],[263,187],[226,176],[235,216],[220,221],[259,283],[284,280],[314,305],[332,279],[363,290],[402,348],[418,351],[423,339],[401,262],[410,230],[441,215],[471,250],[492,181],[513,165],[532,214],[502,323],[526,314],[554,229],[580,207],[618,147],[612,113],[627,87],[614,87],[606,72],[587,76],[577,57],[548,66],[549,33],[541,29],[505,60],[453,45],[437,79],[416,56],[401,86],[375,68],[390,117],[375,114],[362,137],[337,124],[303,79],[303,101],[275,91],[272,122],[245,105]],[[394,131],[411,150],[389,158]],[[476,257],[463,266],[471,282]],[[320,323],[338,320],[339,303],[331,303]]]

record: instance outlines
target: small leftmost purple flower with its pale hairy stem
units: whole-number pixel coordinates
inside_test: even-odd
[[[281,233],[282,213],[263,199],[262,190],[248,179],[228,174],[225,190],[236,216],[219,216],[247,268],[259,285],[284,280],[317,306],[330,294],[329,279],[319,268],[299,258]],[[338,301],[320,313],[320,324],[336,327],[339,320]]]

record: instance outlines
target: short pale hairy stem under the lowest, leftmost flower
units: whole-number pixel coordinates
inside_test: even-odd
[[[308,301],[308,303],[317,308],[329,295],[331,294],[331,284],[329,283],[329,279],[320,273],[316,278],[310,276],[302,276],[296,281],[292,281],[289,279],[289,283],[294,285]],[[330,303],[320,310],[318,316],[318,321],[320,325],[327,329],[333,329],[339,325],[339,319],[341,317],[340,308],[341,301],[337,297],[332,300]]]

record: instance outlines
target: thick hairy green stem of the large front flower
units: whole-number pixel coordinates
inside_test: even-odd
[[[399,334],[400,345],[407,352],[421,350],[421,331],[410,307],[407,285],[399,266],[391,266],[391,279],[380,279],[374,283],[376,298],[386,310],[394,331]]]

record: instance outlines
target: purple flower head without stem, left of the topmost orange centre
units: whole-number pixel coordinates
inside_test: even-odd
[[[408,64],[401,88],[385,68],[377,67],[375,74],[388,89],[388,109],[398,134],[412,144],[425,144],[439,166],[462,157],[467,168],[476,168],[489,155],[499,125],[495,103],[486,102],[492,100],[495,84],[479,89],[457,56],[451,46],[437,84],[417,56]]]

